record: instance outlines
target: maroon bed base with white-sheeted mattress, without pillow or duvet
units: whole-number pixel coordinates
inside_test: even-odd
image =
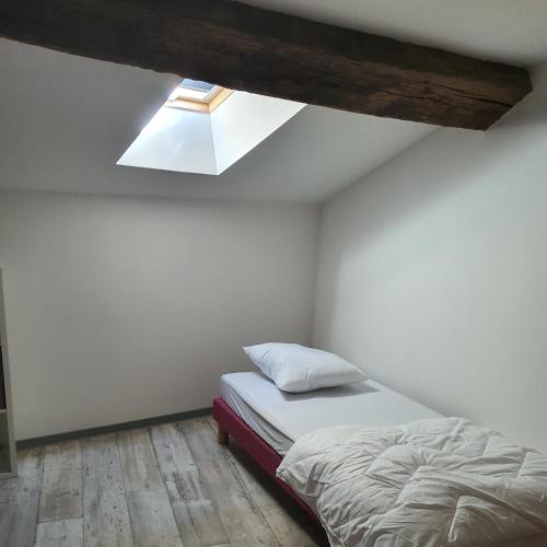
[[[219,442],[233,440],[316,522],[310,507],[276,470],[292,444],[333,426],[395,426],[439,418],[434,410],[373,380],[309,393],[284,393],[258,372],[224,374],[213,401]]]

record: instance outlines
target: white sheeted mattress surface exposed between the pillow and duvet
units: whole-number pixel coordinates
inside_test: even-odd
[[[221,397],[276,452],[287,454],[294,441],[335,426],[398,426],[442,415],[368,380],[309,393],[284,393],[257,372],[224,374]]]

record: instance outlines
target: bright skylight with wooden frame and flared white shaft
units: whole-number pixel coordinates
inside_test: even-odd
[[[220,175],[304,106],[183,80],[117,163]]]

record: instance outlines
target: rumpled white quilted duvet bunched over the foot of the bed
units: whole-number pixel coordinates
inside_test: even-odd
[[[469,420],[316,431],[278,476],[336,547],[547,546],[547,457]]]

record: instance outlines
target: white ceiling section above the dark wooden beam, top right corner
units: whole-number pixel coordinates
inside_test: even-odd
[[[243,0],[348,28],[520,66],[547,60],[546,0]]]

